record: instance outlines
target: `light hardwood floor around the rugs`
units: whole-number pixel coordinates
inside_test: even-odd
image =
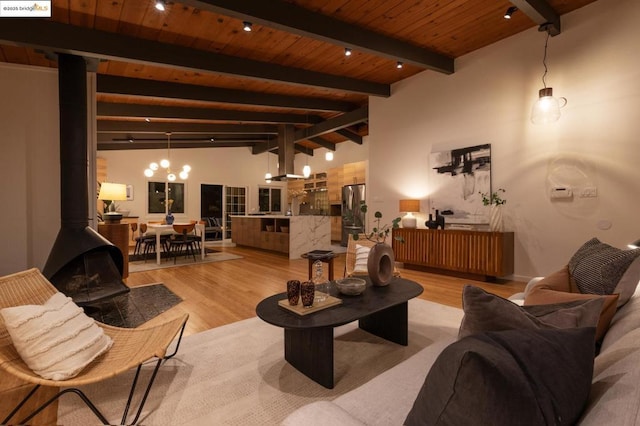
[[[287,280],[307,278],[308,261],[306,259],[289,260],[283,255],[242,247],[216,249],[237,254],[243,258],[136,272],[130,274],[126,282],[132,287],[161,282],[180,296],[183,302],[174,309],[189,313],[189,321],[185,329],[185,334],[189,335],[254,317],[258,302],[267,296],[285,291]],[[344,259],[343,254],[334,260],[336,278],[343,274]],[[462,288],[465,284],[480,286],[503,297],[522,291],[525,286],[525,283],[515,281],[486,283],[399,269],[403,278],[416,281],[424,287],[424,292],[419,296],[421,299],[455,307],[461,307]],[[22,395],[26,394],[27,389],[8,377],[2,378],[0,420],[17,404]],[[41,400],[44,401],[44,397]],[[56,411],[56,407],[45,410],[34,419],[32,424],[56,424]]]

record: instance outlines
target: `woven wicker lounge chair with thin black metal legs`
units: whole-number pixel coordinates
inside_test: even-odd
[[[40,273],[38,269],[30,269],[7,275],[0,278],[0,308],[10,306],[21,306],[27,304],[44,304],[58,290]],[[24,398],[22,402],[4,418],[1,424],[9,423],[9,420],[20,410],[20,408],[35,394],[40,386],[51,386],[56,388],[64,387],[62,391],[57,393],[50,400],[46,401],[29,416],[21,419],[19,422],[11,422],[18,424],[28,423],[35,415],[41,412],[53,401],[57,400],[65,393],[73,392],[78,395],[85,404],[100,419],[102,424],[109,424],[107,419],[98,410],[98,408],[86,397],[86,395],[77,388],[77,386],[87,385],[90,383],[100,382],[107,378],[116,376],[133,367],[137,367],[137,372],[131,385],[131,391],[124,413],[122,415],[121,424],[135,424],[142,412],[147,396],[155,380],[156,373],[160,368],[163,360],[171,358],[178,351],[180,339],[187,322],[188,314],[176,315],[175,313],[166,312],[167,319],[158,325],[141,325],[137,328],[119,328],[106,324],[97,323],[104,332],[113,339],[113,346],[109,351],[96,358],[76,377],[68,380],[56,381],[44,379],[35,374],[22,361],[20,355],[14,348],[11,338],[7,332],[2,316],[0,316],[0,369],[11,374],[20,380],[31,383],[34,388]],[[163,315],[165,315],[163,314]],[[176,347],[173,353],[167,355],[167,349],[174,338],[178,336]],[[140,406],[132,421],[127,421],[127,414],[131,405],[131,401],[136,389],[136,383],[142,364],[154,360],[155,369],[144,396],[140,402]]]

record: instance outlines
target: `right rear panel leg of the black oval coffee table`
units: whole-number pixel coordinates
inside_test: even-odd
[[[409,344],[407,302],[376,312],[359,320],[361,329],[399,345]]]

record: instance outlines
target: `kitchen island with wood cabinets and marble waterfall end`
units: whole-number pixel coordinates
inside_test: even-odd
[[[331,250],[331,221],[329,216],[312,215],[231,216],[231,239],[239,246],[299,259],[312,250]]]

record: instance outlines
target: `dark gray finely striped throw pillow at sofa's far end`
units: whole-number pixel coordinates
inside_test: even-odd
[[[569,274],[581,293],[613,294],[638,256],[640,249],[622,250],[592,238],[569,260]]]

